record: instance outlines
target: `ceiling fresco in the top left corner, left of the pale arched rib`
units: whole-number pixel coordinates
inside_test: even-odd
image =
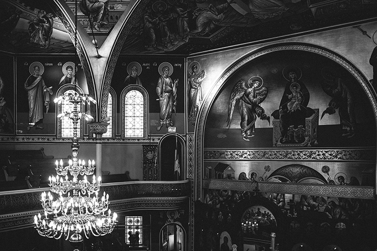
[[[53,1],[0,0],[0,49],[12,53],[74,53]]]

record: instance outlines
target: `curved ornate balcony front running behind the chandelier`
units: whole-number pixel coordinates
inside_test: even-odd
[[[177,209],[190,198],[191,181],[131,181],[101,184],[116,212],[145,209]],[[28,228],[42,212],[41,193],[48,188],[0,192],[0,232]]]

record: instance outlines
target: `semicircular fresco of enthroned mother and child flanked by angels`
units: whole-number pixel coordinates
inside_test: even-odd
[[[276,51],[225,81],[206,119],[204,147],[375,147],[374,117],[345,68],[307,51]]]

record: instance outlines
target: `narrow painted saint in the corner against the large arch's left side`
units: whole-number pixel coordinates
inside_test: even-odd
[[[203,101],[203,93],[202,93],[202,81],[204,80],[205,73],[204,70],[200,73],[197,73],[200,69],[200,65],[198,62],[193,62],[191,67],[191,72],[189,72],[189,107],[190,107],[190,114],[189,114],[189,121],[191,124],[195,126],[196,116],[198,114],[199,106]],[[198,69],[199,68],[199,69]]]

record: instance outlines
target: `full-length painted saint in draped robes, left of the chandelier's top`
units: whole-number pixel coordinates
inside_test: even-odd
[[[42,64],[34,64],[34,73],[26,79],[24,88],[28,91],[29,101],[29,125],[28,131],[35,126],[37,129],[43,129],[43,106],[46,107],[46,113],[50,105],[50,96],[52,95],[52,86],[46,87],[42,76],[40,75],[40,66]],[[40,65],[40,66],[39,66]],[[33,66],[33,64],[31,65]],[[42,72],[43,73],[43,72]]]

